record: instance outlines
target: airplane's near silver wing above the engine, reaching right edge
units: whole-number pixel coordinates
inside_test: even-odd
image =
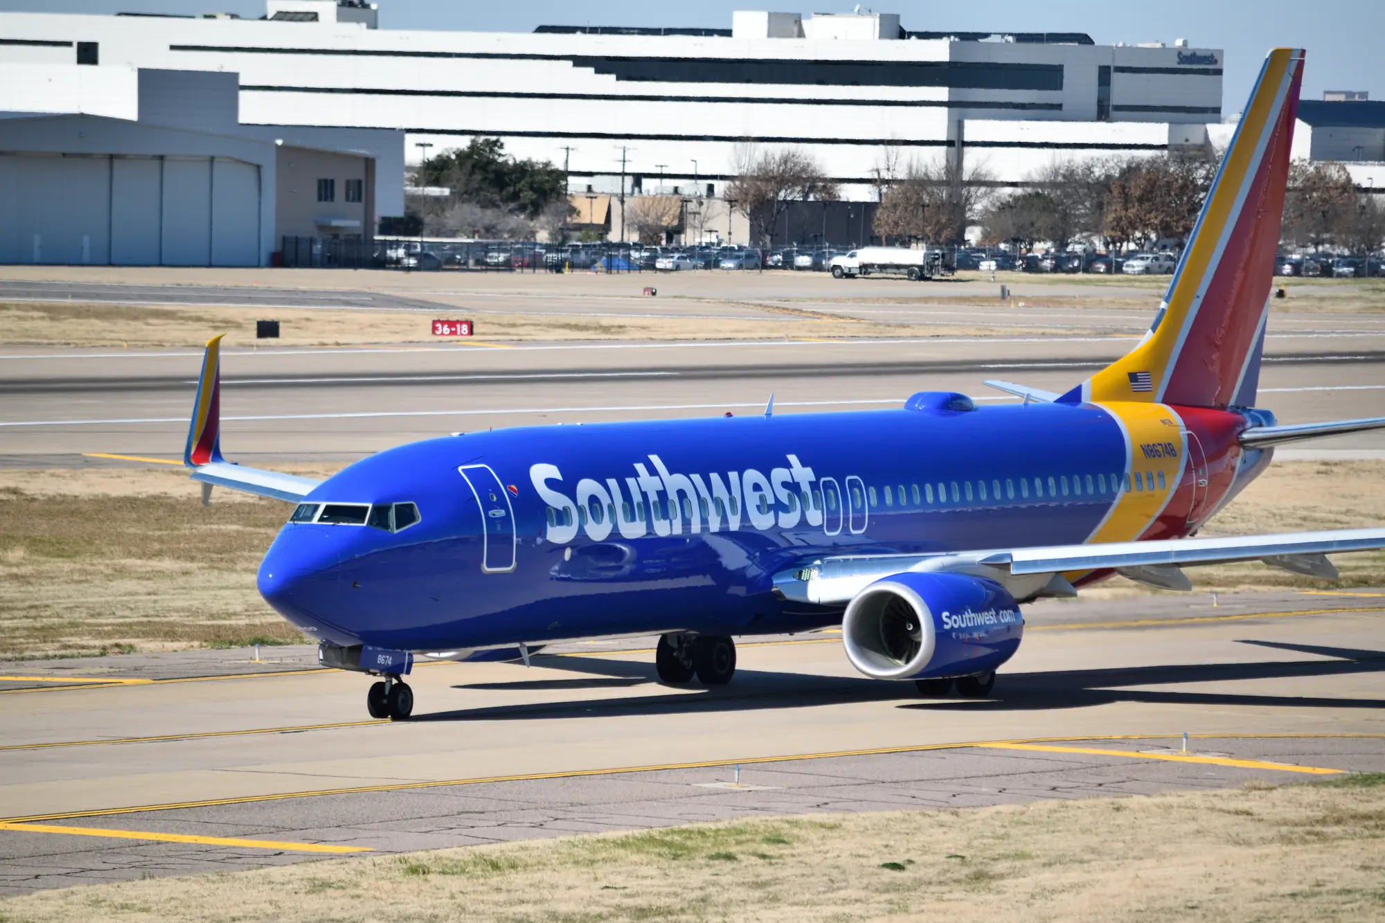
[[[867,585],[904,571],[951,571],[986,577],[1017,600],[1073,596],[1062,577],[1073,571],[1115,570],[1165,589],[1190,589],[1183,567],[1263,561],[1271,567],[1332,579],[1327,554],[1385,547],[1385,528],[1285,532],[1161,542],[1107,542],[986,549],[939,554],[843,554],[823,557],[774,575],[774,590],[801,603],[845,606]]]

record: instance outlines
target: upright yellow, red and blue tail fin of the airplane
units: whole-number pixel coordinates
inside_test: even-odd
[[[1301,49],[1265,58],[1150,333],[1061,401],[1255,402],[1302,78]]]

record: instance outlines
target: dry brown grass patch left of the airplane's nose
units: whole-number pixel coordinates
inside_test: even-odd
[[[0,471],[0,657],[71,657],[302,636],[255,589],[284,503],[180,468]]]

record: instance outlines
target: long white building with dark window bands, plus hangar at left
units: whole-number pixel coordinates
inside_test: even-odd
[[[241,244],[217,244],[213,219],[224,198],[226,209],[256,202],[258,218],[247,211],[234,220],[255,225],[263,261],[284,234],[368,236],[375,218],[403,212],[404,157],[417,161],[472,136],[499,137],[517,157],[565,166],[578,195],[716,197],[747,147],[794,146],[816,157],[848,198],[871,200],[891,162],[961,157],[994,182],[1018,186],[1054,158],[1206,144],[1205,126],[1222,114],[1223,53],[1181,40],[1097,46],[1082,33],[914,32],[893,14],[753,11],[735,12],[729,29],[558,25],[490,33],[375,25],[377,10],[359,0],[269,0],[263,19],[0,12],[0,111],[46,114],[0,121],[0,209],[10,201],[6,183],[28,183],[4,179],[18,175],[17,155],[44,154],[44,146],[71,147],[47,151],[54,157],[173,157],[172,179],[163,162],[165,191],[168,183],[195,183],[190,188],[206,191],[202,208],[212,222],[206,247],[186,258],[241,254]],[[191,98],[147,116],[145,97],[158,80],[144,75],[188,72],[223,80],[220,118],[201,118],[211,109]],[[84,129],[73,119],[112,123],[79,137]],[[213,154],[213,137],[229,147]],[[373,208],[341,218],[346,225],[301,230],[303,220],[332,215],[294,218],[291,197],[305,191],[284,191],[289,161],[260,150],[276,141],[367,161],[361,179],[373,170]],[[168,151],[155,150],[163,144]],[[206,162],[194,169],[179,158]],[[107,231],[86,234],[93,262],[125,252],[98,241],[114,241],[129,215],[116,191],[125,175],[151,169],[114,164],[101,212]],[[83,182],[97,183],[97,168],[84,169]],[[332,176],[346,179],[341,170]],[[296,173],[288,184],[316,179],[330,176]],[[191,198],[180,191],[165,195],[165,205]],[[361,222],[355,231],[350,220]],[[21,225],[0,229],[0,261],[32,258],[32,234]],[[161,231],[165,244],[173,226]],[[240,241],[244,233],[233,236]],[[44,261],[58,252],[53,247],[40,245]],[[69,259],[73,245],[64,247]],[[177,248],[163,249],[168,259]]]

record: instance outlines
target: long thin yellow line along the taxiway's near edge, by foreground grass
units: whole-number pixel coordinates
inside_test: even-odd
[[[1190,735],[1188,739],[1219,739],[1219,740],[1378,740],[1385,739],[1385,735],[1370,735],[1370,733],[1341,733],[1341,735],[1244,735],[1244,733],[1206,733],[1206,735]],[[705,759],[699,762],[670,762],[662,765],[648,765],[648,766],[612,766],[602,769],[566,769],[561,772],[532,772],[519,775],[506,775],[506,776],[481,776],[475,779],[439,779],[434,782],[396,782],[379,786],[353,786],[348,789],[319,789],[310,791],[281,791],[274,794],[262,795],[242,795],[235,798],[205,798],[201,801],[177,801],[170,804],[144,804],[134,805],[129,808],[97,808],[89,811],[66,811],[60,814],[36,814],[29,816],[17,818],[3,818],[0,819],[0,827],[6,825],[29,825],[43,820],[65,820],[69,818],[108,818],[122,814],[144,814],[147,811],[180,811],[187,808],[215,808],[233,804],[258,804],[265,801],[289,801],[294,798],[317,798],[323,795],[342,795],[342,794],[371,794],[378,791],[417,791],[420,789],[446,789],[453,786],[476,786],[494,782],[536,782],[543,779],[580,779],[584,776],[615,776],[615,775],[629,775],[634,772],[663,772],[669,769],[712,769],[724,768],[730,765],[765,765],[774,762],[796,762],[806,759],[835,759],[842,757],[877,757],[889,754],[903,754],[903,753],[924,753],[929,750],[976,750],[976,748],[1021,748],[1024,744],[1054,744],[1054,743],[1068,743],[1068,741],[1083,741],[1083,740],[1181,740],[1183,735],[1107,735],[1102,737],[1030,737],[1028,740],[972,740],[964,743],[939,743],[939,744],[913,744],[902,747],[874,747],[868,750],[835,750],[828,753],[799,753],[787,754],[778,757],[737,757],[730,759]],[[1082,753],[1076,747],[1065,748],[1066,753]],[[1159,754],[1141,754],[1127,750],[1091,750],[1091,754],[1097,755],[1115,755],[1115,757],[1134,757],[1134,758],[1162,758]],[[1202,757],[1199,761],[1220,759],[1220,757]],[[1231,765],[1253,764],[1253,761],[1231,761]],[[1296,769],[1305,771],[1303,768],[1285,766],[1281,764],[1253,764],[1263,769]],[[1345,772],[1342,769],[1313,769],[1314,772]]]

